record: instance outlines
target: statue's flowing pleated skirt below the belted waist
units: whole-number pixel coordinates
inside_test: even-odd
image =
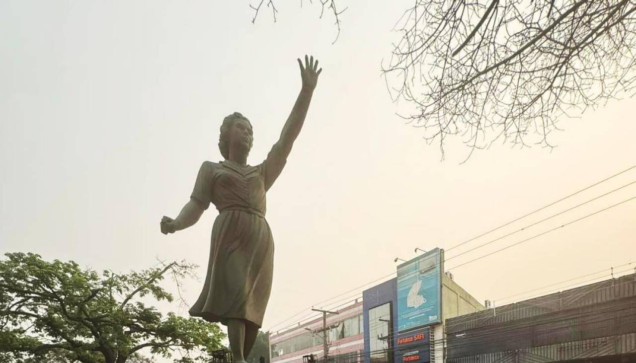
[[[223,210],[212,227],[205,284],[190,315],[227,325],[240,318],[261,327],[272,289],[274,244],[265,217]]]

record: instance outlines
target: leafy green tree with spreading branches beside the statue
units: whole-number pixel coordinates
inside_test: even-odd
[[[159,282],[177,284],[191,264],[170,263],[118,275],[83,270],[37,254],[0,260],[0,361],[19,363],[150,362],[141,353],[201,362],[223,348],[217,324],[163,315],[141,298],[173,301]],[[178,356],[178,357],[174,357]]]

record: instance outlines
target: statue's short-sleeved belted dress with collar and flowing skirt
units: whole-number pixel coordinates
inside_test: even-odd
[[[270,297],[274,244],[265,220],[265,192],[285,165],[274,146],[263,163],[205,161],[192,200],[219,210],[212,226],[205,285],[190,315],[226,324],[240,318],[260,327]]]

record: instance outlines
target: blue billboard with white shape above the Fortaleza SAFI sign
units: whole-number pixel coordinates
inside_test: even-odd
[[[397,266],[397,330],[441,322],[442,250]]]

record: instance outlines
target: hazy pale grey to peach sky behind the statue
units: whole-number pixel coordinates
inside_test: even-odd
[[[466,147],[450,146],[440,161],[395,115],[380,77],[410,1],[340,1],[349,9],[334,45],[317,5],[279,3],[277,23],[265,9],[252,25],[248,1],[1,1],[0,252],[118,271],[186,259],[203,274],[216,210],[169,236],[159,221],[188,201],[202,161],[221,160],[227,114],[254,125],[249,162],[265,158],[305,53],[324,71],[267,195],[276,250],[265,328],[395,271],[415,247],[448,249],[636,165],[634,99],[563,119],[552,150],[495,145],[460,165]],[[465,247],[635,180],[633,169]],[[636,184],[446,268],[632,196]],[[636,200],[452,272],[483,301],[634,260]],[[186,299],[201,284],[186,282]]]

